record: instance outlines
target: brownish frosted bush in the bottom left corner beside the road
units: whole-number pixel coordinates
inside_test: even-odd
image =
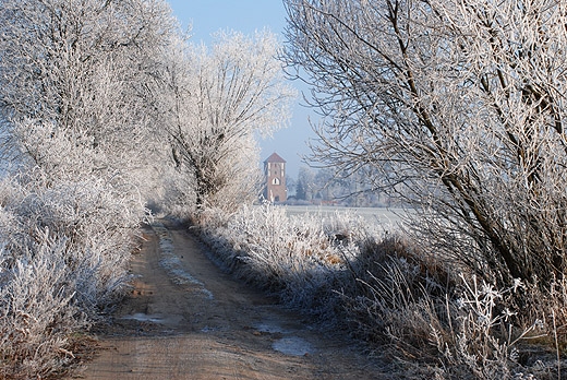
[[[1,211],[2,214],[5,211]],[[14,257],[0,252],[0,377],[43,378],[74,359],[68,336],[87,324],[64,238],[36,230]]]

